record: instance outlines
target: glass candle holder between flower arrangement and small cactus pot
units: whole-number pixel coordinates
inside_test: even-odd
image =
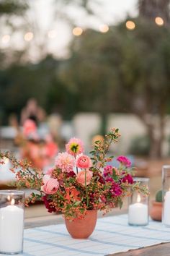
[[[134,178],[134,182],[139,182],[140,186],[148,187],[148,178]],[[148,225],[148,195],[143,195],[138,191],[131,191],[128,208],[128,223],[133,226]]]

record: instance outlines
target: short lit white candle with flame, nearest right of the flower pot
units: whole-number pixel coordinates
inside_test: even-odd
[[[129,205],[128,223],[130,225],[143,226],[148,224],[148,205],[140,202],[140,195],[137,197],[137,202]]]

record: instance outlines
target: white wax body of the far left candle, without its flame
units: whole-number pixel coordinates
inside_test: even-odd
[[[0,208],[0,253],[21,252],[24,210],[16,205]]]

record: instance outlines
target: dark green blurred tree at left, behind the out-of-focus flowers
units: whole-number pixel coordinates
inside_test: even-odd
[[[12,64],[0,70],[0,103],[4,124],[7,124],[6,118],[11,113],[19,117],[21,109],[32,97],[48,113],[59,112],[65,118],[73,115],[75,95],[58,80],[57,72],[63,62],[49,55],[37,64]]]

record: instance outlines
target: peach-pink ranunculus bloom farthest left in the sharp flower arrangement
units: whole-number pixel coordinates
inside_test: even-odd
[[[45,192],[45,194],[55,194],[58,191],[59,183],[58,179],[53,179],[50,175],[43,176],[42,182],[44,185],[41,187],[41,190]]]

